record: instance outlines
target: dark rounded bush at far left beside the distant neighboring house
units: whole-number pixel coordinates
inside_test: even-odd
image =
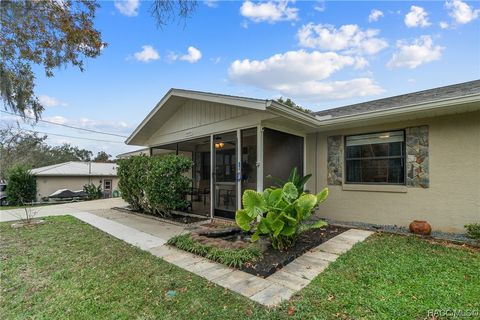
[[[7,200],[10,205],[20,206],[35,201],[37,182],[30,169],[14,165],[7,171]]]

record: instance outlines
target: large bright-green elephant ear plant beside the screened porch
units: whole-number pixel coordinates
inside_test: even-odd
[[[327,225],[321,220],[308,222],[314,209],[327,196],[327,188],[314,195],[299,192],[293,182],[263,192],[245,190],[243,209],[236,212],[235,221],[245,231],[254,230],[252,241],[267,236],[275,249],[283,250],[295,244],[303,232]]]

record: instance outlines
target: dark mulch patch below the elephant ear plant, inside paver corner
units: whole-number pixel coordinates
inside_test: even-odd
[[[271,245],[263,251],[263,257],[253,264],[245,264],[241,270],[259,277],[268,277],[278,269],[286,266],[295,258],[323,242],[347,231],[348,228],[328,225],[321,229],[311,229],[303,233],[297,243],[286,251],[273,249]]]

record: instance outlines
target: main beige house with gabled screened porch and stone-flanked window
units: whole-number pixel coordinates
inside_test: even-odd
[[[329,187],[322,217],[462,232],[480,222],[480,81],[308,114],[171,89],[126,141],[192,158],[193,213],[234,218],[245,189],[292,167]],[[213,190],[214,192],[210,192]],[[213,204],[213,205],[210,205]]]

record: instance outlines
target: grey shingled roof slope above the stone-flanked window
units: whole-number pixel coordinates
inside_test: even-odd
[[[359,115],[388,109],[405,108],[412,105],[431,103],[451,98],[468,97],[480,94],[480,80],[469,81],[445,87],[417,91],[399,96],[367,101],[339,108],[322,110],[315,115],[319,120]]]

